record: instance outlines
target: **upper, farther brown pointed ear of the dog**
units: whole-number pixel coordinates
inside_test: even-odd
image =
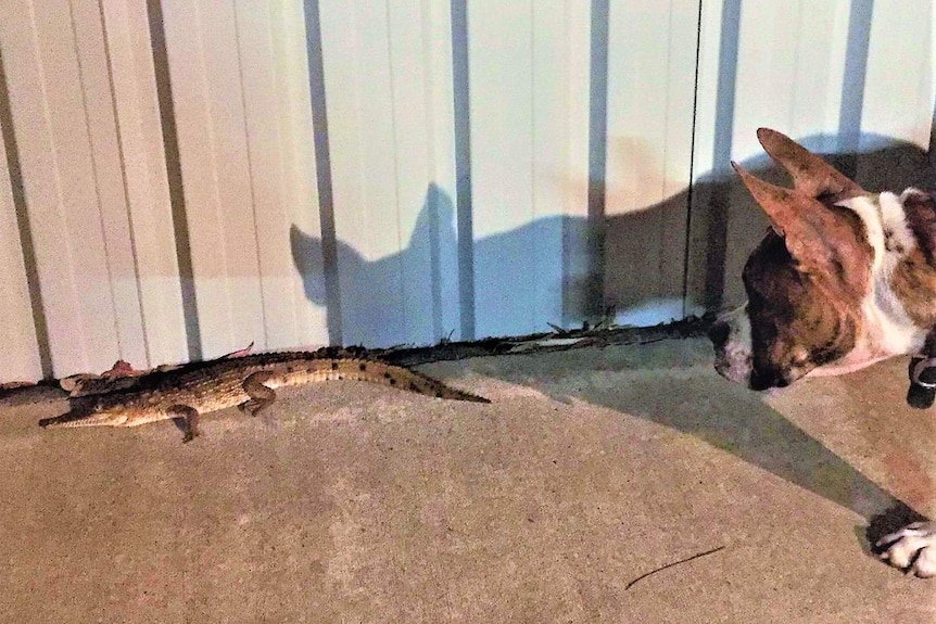
[[[789,173],[794,188],[810,198],[829,198],[834,203],[865,194],[857,182],[786,135],[758,128],[757,139],[770,157]]]

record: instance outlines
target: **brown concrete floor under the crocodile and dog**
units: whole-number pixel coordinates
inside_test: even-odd
[[[691,340],[437,364],[493,403],[336,382],[189,445],[169,423],[42,431],[64,402],[8,399],[2,620],[936,621],[936,580],[865,539],[897,499],[936,512],[936,408],[906,406],[906,362],[766,396],[710,359]]]

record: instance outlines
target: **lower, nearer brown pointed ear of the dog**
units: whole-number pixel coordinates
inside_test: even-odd
[[[863,276],[870,263],[859,252],[863,247],[855,227],[842,212],[830,209],[805,190],[777,187],[737,163],[732,162],[732,166],[783,237],[800,270],[834,288],[839,296],[863,296]]]

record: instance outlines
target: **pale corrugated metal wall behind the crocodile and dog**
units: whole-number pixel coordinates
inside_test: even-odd
[[[758,126],[925,157],[933,18],[928,0],[4,0],[0,381],[737,301],[763,224],[729,160],[760,154]]]

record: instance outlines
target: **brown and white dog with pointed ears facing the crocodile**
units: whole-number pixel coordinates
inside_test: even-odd
[[[760,391],[920,354],[936,328],[934,196],[865,191],[781,132],[757,136],[794,187],[732,163],[771,228],[744,267],[747,303],[710,329],[716,370]],[[915,381],[926,384],[919,371]],[[897,568],[936,575],[936,522],[876,547]]]

